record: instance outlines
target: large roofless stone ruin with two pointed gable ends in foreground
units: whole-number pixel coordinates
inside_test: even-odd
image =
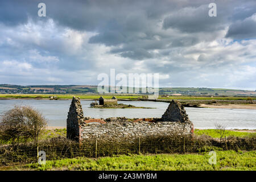
[[[107,118],[84,117],[80,98],[73,97],[67,119],[67,138],[82,142],[86,139],[121,139],[148,137],[150,135],[192,135],[193,123],[189,121],[180,102],[172,100],[162,118]]]

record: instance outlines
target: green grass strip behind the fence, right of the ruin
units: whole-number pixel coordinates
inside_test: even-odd
[[[220,134],[218,134],[217,130],[215,130],[215,129],[206,129],[206,130],[195,129],[195,135],[208,135],[213,138],[220,138]],[[256,133],[226,130],[224,135],[226,135],[226,137],[230,137],[230,136],[233,136],[233,137],[255,137]]]

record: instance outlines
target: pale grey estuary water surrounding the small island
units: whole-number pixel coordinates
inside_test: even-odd
[[[118,101],[120,104],[155,107],[156,109],[99,109],[90,108],[91,102],[81,101],[81,104],[84,115],[92,118],[160,118],[168,107],[166,102]],[[44,114],[48,120],[48,126],[65,127],[70,104],[71,100],[0,100],[0,115],[14,105],[30,105]],[[185,110],[196,129],[214,129],[215,123],[226,126],[226,129],[256,129],[256,109],[185,107]]]

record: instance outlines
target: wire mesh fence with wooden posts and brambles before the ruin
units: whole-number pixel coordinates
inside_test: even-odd
[[[255,150],[255,137],[214,139],[207,136],[151,136],[130,138],[90,138],[81,143],[64,137],[33,143],[0,146],[0,165],[36,163],[38,150],[47,160],[65,158],[98,158],[130,154],[186,154],[210,150]]]

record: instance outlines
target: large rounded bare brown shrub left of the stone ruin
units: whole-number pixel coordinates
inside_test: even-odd
[[[38,139],[47,121],[38,110],[31,106],[14,106],[3,114],[0,122],[0,140],[12,144]]]

